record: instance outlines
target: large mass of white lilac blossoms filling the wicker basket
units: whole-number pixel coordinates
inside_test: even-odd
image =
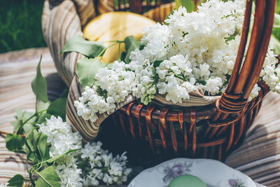
[[[146,27],[144,48],[130,53],[129,64],[114,62],[99,69],[97,85],[86,87],[74,102],[78,115],[97,120],[97,114],[113,112],[116,103],[133,95],[148,104],[155,95],[174,103],[189,99],[196,87],[209,95],[221,94],[232,74],[241,39],[245,1],[206,1],[197,12],[180,7],[160,23]],[[280,67],[268,50],[260,73],[270,90],[280,93]],[[258,95],[255,86],[250,99]],[[109,181],[109,179],[106,179]]]

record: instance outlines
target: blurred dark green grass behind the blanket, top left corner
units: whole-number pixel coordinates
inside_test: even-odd
[[[41,29],[43,0],[0,0],[0,53],[45,47]],[[276,12],[280,12],[277,0]],[[275,32],[280,39],[280,31]]]

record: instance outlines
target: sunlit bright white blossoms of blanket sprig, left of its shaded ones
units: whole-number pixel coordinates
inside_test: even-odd
[[[47,123],[40,124],[39,130],[48,136],[50,157],[62,155],[71,149],[82,148],[82,136],[79,132],[72,132],[71,126],[62,121],[62,118],[51,116]],[[62,180],[62,186],[83,186],[80,177],[82,169],[77,166],[77,152],[69,153],[56,161],[55,170]]]

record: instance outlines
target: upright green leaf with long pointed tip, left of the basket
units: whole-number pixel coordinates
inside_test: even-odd
[[[48,102],[47,81],[45,81],[45,78],[41,74],[41,60],[42,55],[37,66],[36,77],[33,79],[31,87],[37,99],[40,99],[42,102]]]

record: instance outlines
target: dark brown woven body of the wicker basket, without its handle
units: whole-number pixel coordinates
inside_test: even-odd
[[[148,141],[151,151],[162,158],[188,157],[224,160],[241,141],[253,123],[262,98],[269,91],[261,88],[258,97],[246,104],[246,109],[223,114],[225,120],[214,120],[221,112],[216,104],[204,107],[174,107],[131,102],[114,113],[114,122],[135,141]],[[224,96],[223,96],[224,97]]]

